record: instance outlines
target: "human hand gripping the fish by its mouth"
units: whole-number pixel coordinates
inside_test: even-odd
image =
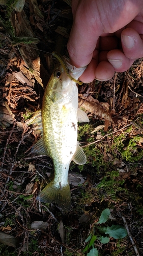
[[[142,0],[73,0],[68,41],[72,65],[88,68],[80,80],[106,81],[143,57]]]

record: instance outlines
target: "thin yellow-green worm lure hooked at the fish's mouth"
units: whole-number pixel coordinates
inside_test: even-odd
[[[81,81],[78,81],[76,80],[74,77],[72,77],[70,74],[69,74],[69,69],[67,67],[67,64],[66,64],[66,61],[65,59],[63,58],[63,56],[61,54],[59,54],[58,52],[52,52],[52,55],[59,60],[59,62],[61,63],[63,69],[65,70],[66,72],[66,75],[74,82],[78,83],[80,86],[81,84],[83,84],[83,82]]]

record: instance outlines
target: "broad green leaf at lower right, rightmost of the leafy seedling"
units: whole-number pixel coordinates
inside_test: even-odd
[[[109,234],[110,237],[115,239],[125,238],[127,236],[127,230],[123,226],[112,225],[106,228],[105,234]]]

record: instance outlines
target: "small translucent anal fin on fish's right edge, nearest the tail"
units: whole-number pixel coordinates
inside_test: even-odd
[[[76,152],[73,155],[72,160],[77,164],[85,164],[87,162],[87,158],[82,150],[82,148],[78,145],[76,146]]]

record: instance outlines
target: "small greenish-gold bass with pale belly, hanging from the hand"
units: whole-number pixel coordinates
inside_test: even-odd
[[[42,110],[33,121],[38,123],[42,138],[33,146],[32,153],[49,156],[54,167],[53,179],[37,199],[41,202],[56,203],[61,210],[68,211],[71,208],[68,182],[70,163],[72,160],[76,164],[85,164],[87,161],[77,142],[77,122],[89,122],[89,118],[78,108],[76,85],[76,79],[84,72],[85,67],[75,68],[67,57],[64,61],[69,76],[63,63],[53,70],[44,92]]]

